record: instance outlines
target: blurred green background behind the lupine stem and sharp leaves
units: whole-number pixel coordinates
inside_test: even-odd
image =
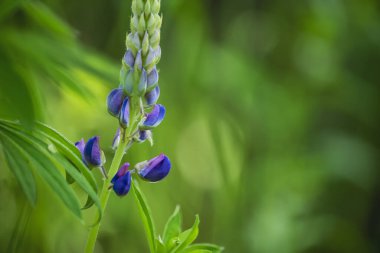
[[[130,4],[2,0],[0,117],[100,135],[109,166]],[[167,116],[127,157],[173,162],[142,186],[158,229],[179,204],[226,252],[380,252],[379,2],[162,0],[162,13]],[[0,252],[81,252],[86,226],[41,180],[29,207],[0,157]],[[113,195],[96,252],[147,251],[132,198]]]

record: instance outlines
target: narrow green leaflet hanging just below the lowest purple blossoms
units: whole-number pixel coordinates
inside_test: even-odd
[[[149,243],[150,252],[156,251],[156,232],[153,223],[153,217],[148,206],[148,203],[141,192],[137,180],[132,180],[132,193],[135,196],[135,200],[139,209],[141,220],[143,221],[146,237]]]

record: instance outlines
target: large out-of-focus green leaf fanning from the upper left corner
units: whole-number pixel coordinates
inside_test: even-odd
[[[112,83],[107,71],[113,66],[82,48],[73,30],[42,2],[5,1],[2,5],[0,117],[21,120],[29,127],[35,119],[44,119],[43,94],[52,85],[93,99],[91,88],[83,84],[78,72]],[[24,15],[28,26],[12,23],[15,12]]]

